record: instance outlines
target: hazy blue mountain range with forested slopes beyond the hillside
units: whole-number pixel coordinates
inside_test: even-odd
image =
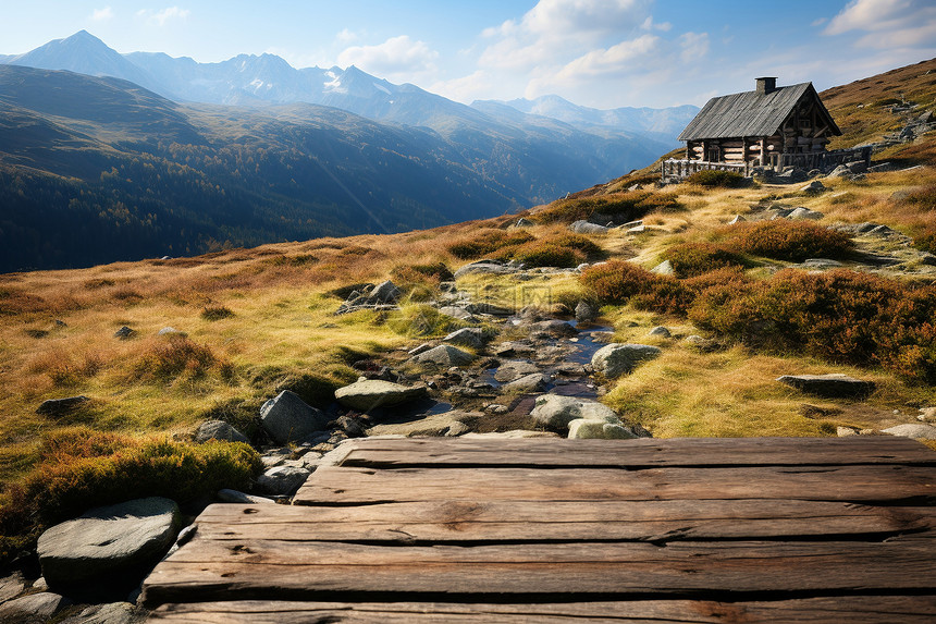
[[[82,30],[0,57],[0,176],[19,181],[0,270],[500,215],[652,162],[697,110],[466,106],[355,66],[121,54]]]

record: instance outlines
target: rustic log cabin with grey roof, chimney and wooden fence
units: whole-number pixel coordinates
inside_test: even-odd
[[[838,135],[841,131],[812,83],[778,87],[775,77],[756,78],[754,90],[712,98],[689,122],[679,135],[686,142],[686,160],[667,161],[669,178],[701,169],[748,175],[753,167],[824,169],[870,160],[870,149],[826,151],[829,137]],[[665,180],[665,164],[663,173]]]

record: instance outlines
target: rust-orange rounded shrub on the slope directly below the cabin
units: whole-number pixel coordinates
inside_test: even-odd
[[[845,258],[854,246],[848,234],[809,221],[754,221],[737,223],[722,232],[731,249],[791,262]]]

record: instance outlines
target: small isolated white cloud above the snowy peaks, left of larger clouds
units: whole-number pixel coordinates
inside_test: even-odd
[[[439,52],[431,50],[424,41],[414,41],[402,35],[378,46],[346,48],[338,54],[338,64],[355,65],[389,79],[411,79],[414,75],[434,72],[438,58]]]

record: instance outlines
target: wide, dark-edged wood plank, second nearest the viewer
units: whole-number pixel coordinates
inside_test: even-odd
[[[355,596],[574,599],[632,594],[936,592],[932,543],[674,542],[374,546],[194,540],[144,583],[149,603]],[[792,596],[788,596],[792,597]],[[490,600],[490,599],[489,599]],[[524,598],[522,601],[530,601]]]

